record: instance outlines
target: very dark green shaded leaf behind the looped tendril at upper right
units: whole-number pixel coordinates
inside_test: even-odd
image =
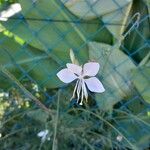
[[[131,55],[132,58],[139,63],[149,52],[148,40],[150,37],[148,10],[142,0],[134,2],[129,20],[137,12],[141,14],[139,27],[132,30],[126,37],[122,50]]]

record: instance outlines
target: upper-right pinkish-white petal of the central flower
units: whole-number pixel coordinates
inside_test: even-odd
[[[95,76],[99,71],[100,65],[96,62],[89,62],[83,66],[84,76]]]

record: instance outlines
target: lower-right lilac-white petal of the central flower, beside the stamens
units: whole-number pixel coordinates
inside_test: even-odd
[[[105,91],[102,83],[96,77],[84,79],[84,81],[91,92],[102,93]]]

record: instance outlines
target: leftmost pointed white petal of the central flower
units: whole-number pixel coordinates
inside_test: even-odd
[[[57,73],[58,78],[64,83],[70,83],[77,79],[77,76],[72,73],[68,68],[62,69]]]

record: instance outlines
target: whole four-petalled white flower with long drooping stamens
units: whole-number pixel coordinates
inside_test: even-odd
[[[80,100],[80,105],[83,104],[84,97],[86,101],[88,99],[87,89],[96,93],[105,91],[102,83],[95,77],[100,68],[97,62],[89,62],[83,66],[67,63],[66,66],[67,68],[59,71],[57,76],[64,83],[71,83],[77,80],[72,98],[77,95],[77,102],[79,103]]]

